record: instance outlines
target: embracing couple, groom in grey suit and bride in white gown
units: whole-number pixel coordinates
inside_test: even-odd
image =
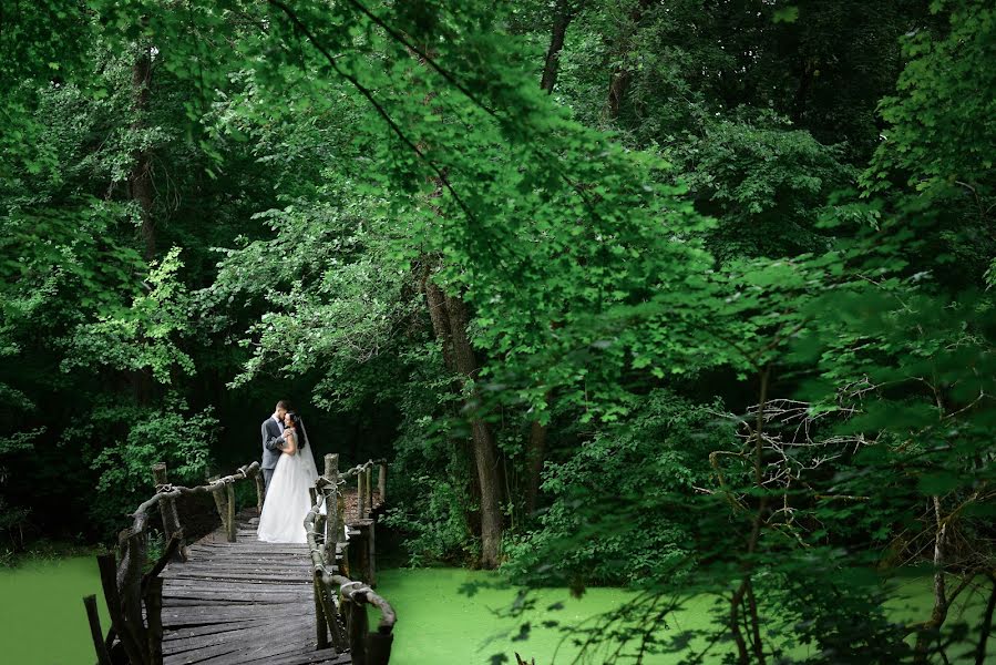
[[[305,423],[285,400],[263,421],[263,480],[266,485],[256,535],[268,543],[304,543],[308,492],[318,480]]]

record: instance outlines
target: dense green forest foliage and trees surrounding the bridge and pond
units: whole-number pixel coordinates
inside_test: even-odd
[[[8,552],[289,397],[596,657],[985,659],[989,3],[0,2]]]

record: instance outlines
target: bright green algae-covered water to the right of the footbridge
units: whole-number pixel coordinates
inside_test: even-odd
[[[468,594],[469,586],[496,582],[497,575],[482,571],[459,569],[390,570],[380,574],[378,593],[386,597],[398,614],[394,630],[392,665],[476,665],[515,663],[515,653],[525,662],[535,658],[536,665],[571,663],[602,664],[632,663],[636,645],[624,654],[630,658],[613,656],[604,649],[589,649],[583,659],[576,661],[578,647],[572,640],[564,640],[557,627],[545,627],[545,622],[559,625],[595,626],[598,615],[618,610],[632,601],[635,593],[619,589],[588,589],[581,598],[574,598],[565,589],[541,590],[527,596],[530,607],[517,617],[509,616],[507,608],[515,602],[513,590],[483,589]],[[899,596],[889,607],[897,622],[922,621],[930,614],[933,603],[931,580],[918,574],[897,580]],[[461,592],[463,590],[463,592]],[[988,589],[979,593],[964,594],[953,605],[948,621],[966,621],[972,627],[972,640],[977,637],[978,620],[988,595]],[[706,630],[713,620],[716,596],[685,600],[680,607],[667,615],[665,640],[684,631]],[[550,610],[554,607],[554,610]],[[721,612],[726,615],[726,603]],[[370,614],[371,625],[377,613]],[[528,631],[522,626],[528,624]],[[603,624],[604,625],[604,624]],[[987,653],[996,664],[996,640],[988,643]],[[705,637],[692,637],[684,654],[645,655],[646,665],[671,665],[682,655],[701,653],[707,646]],[[723,648],[722,651],[728,651]],[[705,663],[720,662],[722,651],[710,651]],[[952,647],[952,663],[974,663],[973,657],[958,657],[965,649]],[[791,651],[793,657],[809,655],[804,649]]]

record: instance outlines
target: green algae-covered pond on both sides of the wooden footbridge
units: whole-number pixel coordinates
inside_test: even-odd
[[[576,647],[562,643],[556,628],[544,628],[543,622],[576,625],[633,597],[632,592],[616,589],[589,589],[579,600],[572,597],[567,590],[543,590],[530,596],[535,607],[512,618],[500,611],[507,610],[515,592],[491,587],[479,589],[472,595],[461,593],[469,585],[495,581],[497,576],[493,573],[460,569],[381,571],[378,591],[391,602],[399,616],[392,665],[486,664],[497,654],[514,663],[514,652],[526,661],[535,658],[537,665],[571,663]],[[0,569],[0,653],[4,662],[93,665],[95,658],[82,602],[91,593],[97,594],[101,622],[106,630],[109,620],[93,556]],[[904,593],[912,600],[896,604],[897,617],[912,614],[905,608],[911,603],[928,606],[930,586],[925,579],[906,582]],[[978,616],[982,600],[975,598],[967,610],[968,616]],[[711,603],[709,598],[691,598],[669,617],[669,626],[675,631],[705,626]],[[548,611],[551,606],[557,608]],[[525,623],[531,627],[527,634],[522,630]],[[996,654],[993,647],[990,641],[990,653]],[[674,656],[657,656],[645,662],[666,665],[676,661]],[[604,658],[593,662],[602,663]]]

